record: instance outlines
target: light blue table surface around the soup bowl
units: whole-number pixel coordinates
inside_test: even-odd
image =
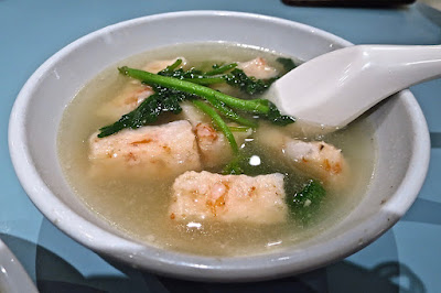
[[[234,10],[310,24],[355,44],[441,44],[441,12],[288,7],[278,0],[0,0],[0,238],[41,292],[440,292],[441,80],[411,88],[427,117],[431,161],[410,210],[362,251],[305,274],[260,283],[187,282],[128,268],[94,253],[55,228],[30,202],[9,158],[8,119],[31,74],[74,40],[120,21],[182,10]]]

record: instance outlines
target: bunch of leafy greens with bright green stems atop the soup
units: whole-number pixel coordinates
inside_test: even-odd
[[[213,69],[206,73],[195,68],[184,70],[179,68],[181,64],[182,59],[176,59],[176,62],[158,74],[127,66],[118,68],[121,74],[150,85],[155,94],[142,101],[133,111],[123,115],[117,122],[101,128],[98,137],[104,138],[125,128],[136,129],[147,126],[157,121],[162,112],[180,113],[182,111],[180,102],[192,100],[197,108],[212,118],[213,123],[225,134],[235,153],[235,159],[225,167],[225,172],[228,174],[241,174],[243,169],[239,165],[241,159],[232,131],[247,131],[249,128],[257,128],[256,118],[267,119],[278,126],[294,122],[292,117],[282,116],[269,100],[239,99],[203,86],[214,83],[227,83],[249,95],[254,95],[268,88],[273,82],[272,79],[259,80],[248,77],[243,70],[235,68],[237,66],[236,63],[220,66],[214,65]],[[205,99],[211,106],[201,99]],[[252,115],[252,117],[243,117],[235,110]],[[229,128],[220,116],[237,122],[239,127]]]

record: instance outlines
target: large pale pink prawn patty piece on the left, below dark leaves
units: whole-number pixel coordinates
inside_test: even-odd
[[[202,170],[197,143],[189,121],[126,129],[89,139],[93,175],[165,178]]]

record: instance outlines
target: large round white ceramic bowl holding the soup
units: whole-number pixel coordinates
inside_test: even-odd
[[[406,213],[423,183],[430,153],[424,117],[408,90],[368,117],[375,127],[378,162],[364,199],[342,223],[309,241],[262,256],[195,257],[139,245],[93,215],[60,167],[56,135],[64,108],[82,86],[117,61],[159,46],[201,41],[255,45],[303,61],[351,45],[292,21],[225,11],[135,19],[69,44],[24,85],[9,126],[20,182],[54,225],[99,253],[150,271],[193,280],[246,281],[304,272],[342,259],[375,240]]]

